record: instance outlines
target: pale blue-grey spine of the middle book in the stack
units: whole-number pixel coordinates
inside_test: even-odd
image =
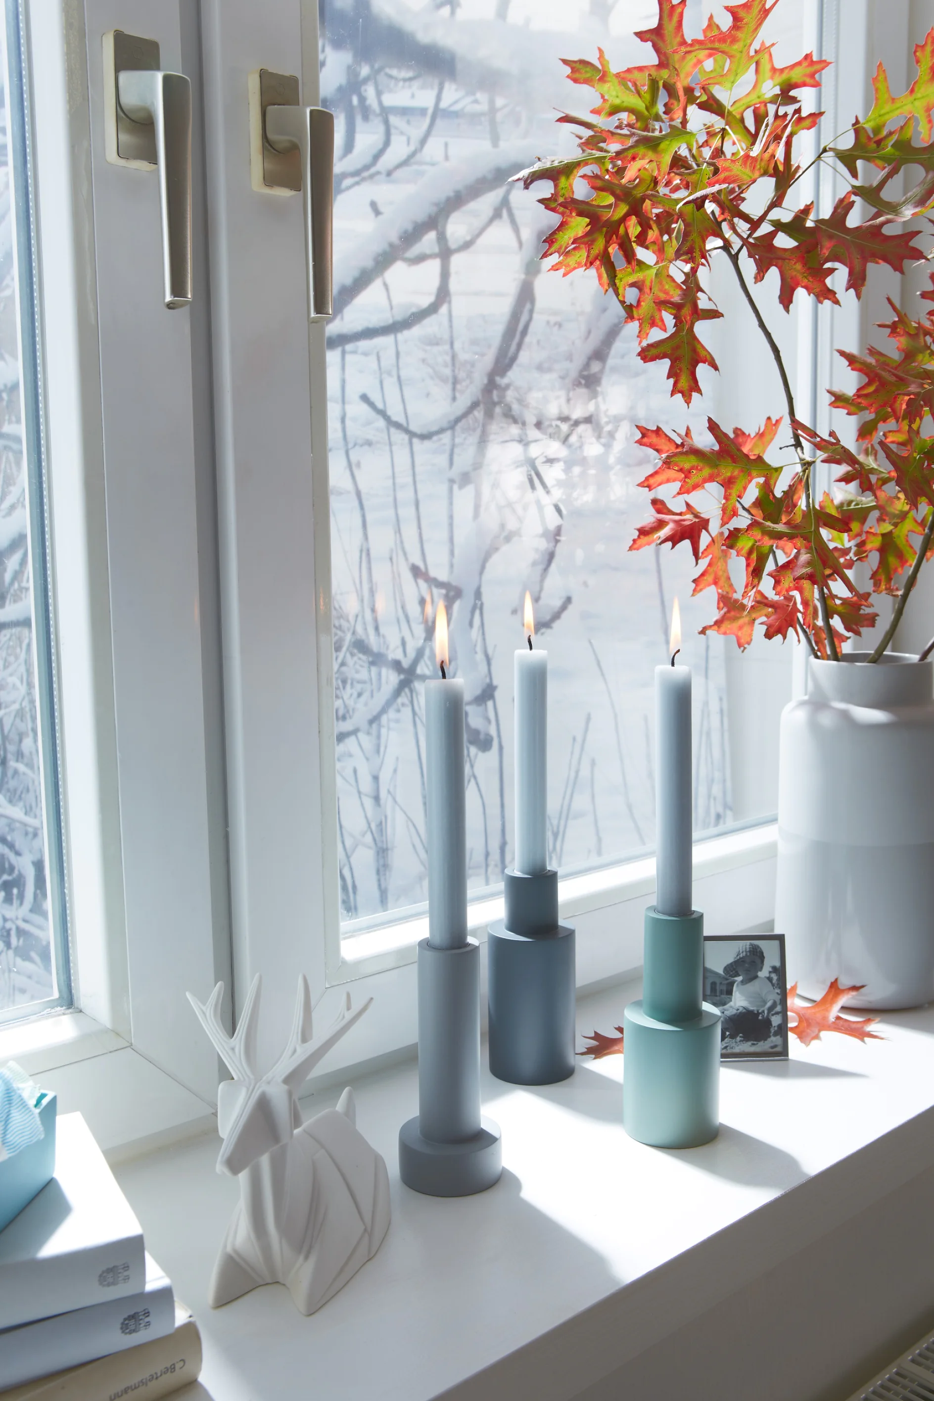
[[[92,1358],[122,1352],[175,1327],[175,1299],[165,1276],[144,1293],[109,1299],[55,1318],[0,1334],[0,1387],[76,1367]]]

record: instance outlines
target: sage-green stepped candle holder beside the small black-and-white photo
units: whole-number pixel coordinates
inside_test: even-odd
[[[703,1000],[704,916],[646,911],[644,985],[623,1012],[623,1128],[653,1147],[720,1129],[720,1012]]]

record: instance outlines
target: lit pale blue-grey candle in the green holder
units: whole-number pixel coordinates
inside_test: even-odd
[[[655,667],[655,908],[689,915],[692,897],[690,667],[681,651],[681,609],[671,616],[671,664]]]

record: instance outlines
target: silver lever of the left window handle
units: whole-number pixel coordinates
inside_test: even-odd
[[[123,70],[118,97],[125,115],[153,126],[162,216],[165,305],[192,300],[192,84],[183,73]]]

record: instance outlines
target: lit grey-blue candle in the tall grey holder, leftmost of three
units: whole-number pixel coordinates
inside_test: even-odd
[[[442,602],[434,618],[434,656],[441,681],[424,686],[428,943],[433,948],[462,948],[468,939],[463,682],[447,674],[448,614]]]

